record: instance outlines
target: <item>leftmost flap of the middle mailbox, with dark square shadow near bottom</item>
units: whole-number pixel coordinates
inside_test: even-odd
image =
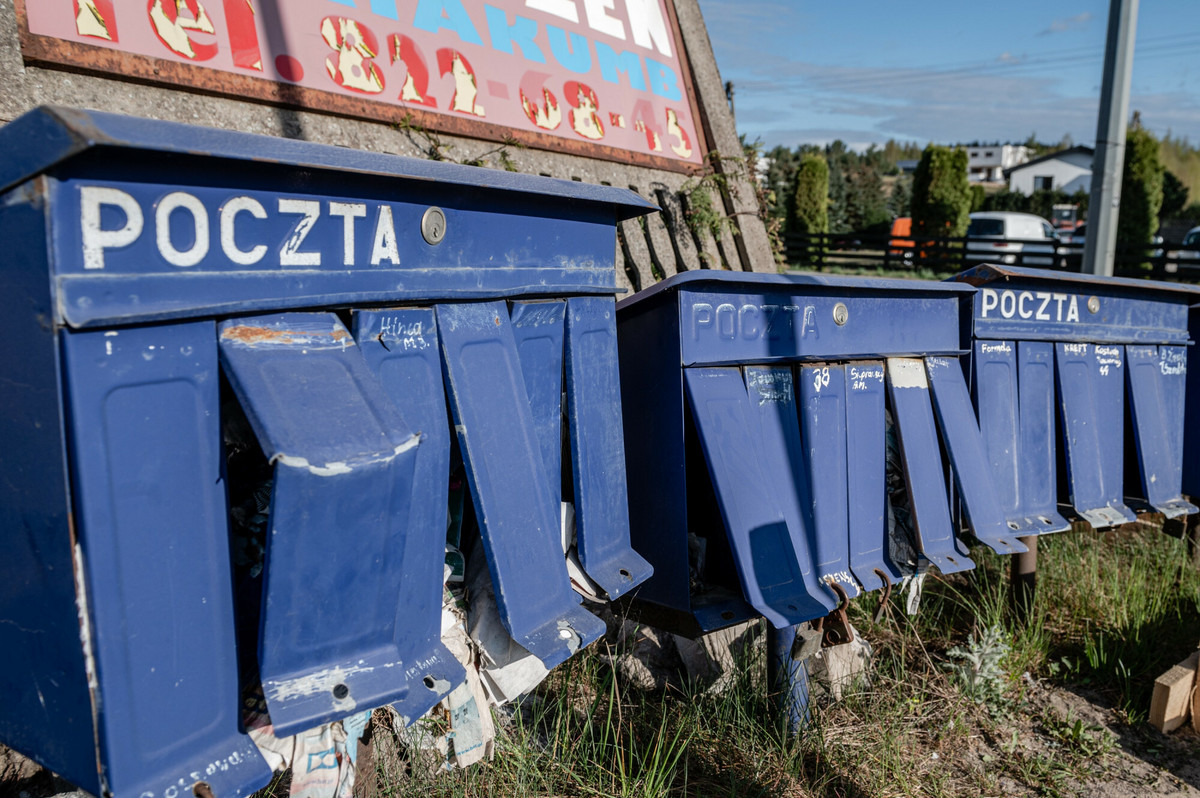
[[[684,380],[746,601],[776,629],[824,614],[824,602],[809,596],[776,499],[794,484],[781,479],[780,469],[768,476],[763,467],[762,428],[749,413],[742,372],[686,368]]]

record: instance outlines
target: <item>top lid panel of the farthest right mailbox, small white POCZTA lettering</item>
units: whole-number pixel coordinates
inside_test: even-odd
[[[1200,287],[985,264],[950,281],[976,286],[977,338],[1186,343]]]

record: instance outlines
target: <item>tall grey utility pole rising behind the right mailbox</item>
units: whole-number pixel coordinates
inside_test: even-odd
[[[1129,119],[1129,78],[1133,42],[1138,35],[1138,0],[1111,0],[1109,35],[1104,46],[1104,82],[1096,125],[1092,196],[1087,206],[1084,271],[1111,275],[1121,210],[1121,172],[1124,167],[1126,124]]]

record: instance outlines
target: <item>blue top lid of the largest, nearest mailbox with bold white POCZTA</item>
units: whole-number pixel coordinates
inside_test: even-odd
[[[0,144],[0,184],[20,184],[6,206],[44,206],[55,320],[77,329],[612,294],[617,223],[654,209],[622,188],[58,108]]]

